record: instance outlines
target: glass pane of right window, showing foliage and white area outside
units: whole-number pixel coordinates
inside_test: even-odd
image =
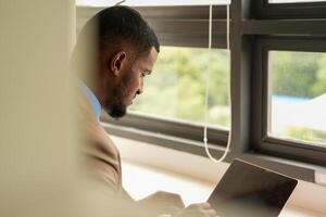
[[[269,52],[272,136],[326,145],[326,53]]]

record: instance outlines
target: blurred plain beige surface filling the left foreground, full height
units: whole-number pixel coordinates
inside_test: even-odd
[[[74,216],[73,0],[0,1],[0,216]]]

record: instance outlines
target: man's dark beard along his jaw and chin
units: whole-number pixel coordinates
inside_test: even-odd
[[[104,111],[113,118],[118,119],[127,114],[125,99],[130,94],[128,88],[131,84],[131,76],[126,75],[122,81],[108,94],[104,101]]]

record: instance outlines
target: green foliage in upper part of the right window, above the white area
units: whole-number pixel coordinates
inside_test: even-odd
[[[312,52],[271,52],[273,94],[315,98],[326,92],[326,55]]]

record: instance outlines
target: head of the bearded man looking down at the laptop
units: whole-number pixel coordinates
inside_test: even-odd
[[[141,93],[143,77],[156,61],[160,44],[154,31],[137,11],[112,7],[86,24],[76,50],[78,47],[85,47],[78,62],[92,62],[87,67],[91,80],[87,85],[110,116],[122,117],[133,99]]]

